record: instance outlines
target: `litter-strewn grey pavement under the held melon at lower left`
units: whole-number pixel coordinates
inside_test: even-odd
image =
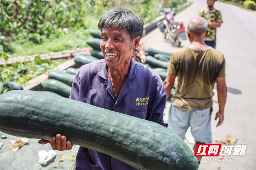
[[[0,132],[0,135],[4,134]],[[47,145],[40,145],[38,144],[38,139],[30,139],[29,144],[26,144],[16,152],[11,150],[11,147],[9,146],[8,141],[9,140],[17,140],[19,137],[14,137],[8,134],[6,135],[6,139],[0,138],[0,143],[3,142],[4,145],[2,146],[2,149],[0,149],[0,170],[53,170],[51,168],[53,167],[63,167],[58,168],[58,170],[61,169],[69,169],[70,166],[75,163],[70,160],[64,160],[63,162],[59,162],[58,159],[60,158],[59,155],[56,156],[54,159],[54,162],[47,165],[47,166],[41,166],[38,163],[38,151],[46,150],[47,152],[49,150],[52,150],[52,147],[50,147],[49,144]],[[76,156],[79,146],[74,146],[71,152],[72,156]],[[56,151],[57,154],[69,154],[70,151]]]

